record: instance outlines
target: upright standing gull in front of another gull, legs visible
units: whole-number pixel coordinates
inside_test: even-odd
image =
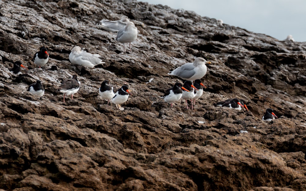
[[[126,26],[120,29],[117,33],[116,40],[118,42],[123,43],[123,50],[125,52],[125,43],[130,43],[130,51],[131,51],[131,42],[135,41],[137,38],[138,30],[135,27],[133,22],[128,22]]]

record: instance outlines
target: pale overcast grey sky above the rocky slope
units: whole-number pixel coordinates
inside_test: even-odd
[[[201,16],[284,40],[306,41],[306,0],[141,0],[192,10]]]

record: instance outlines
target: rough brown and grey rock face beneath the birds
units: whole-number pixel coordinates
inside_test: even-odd
[[[123,16],[139,30],[126,54],[96,25]],[[72,65],[76,45],[106,63]],[[305,45],[132,0],[1,1],[0,189],[305,190]],[[160,96],[181,80],[167,73],[195,57],[213,63],[207,89],[195,110],[171,108]],[[30,70],[11,73],[17,60]],[[73,74],[80,90],[63,103]],[[27,91],[38,79],[41,99]],[[99,97],[105,79],[129,86],[123,111]],[[212,105],[233,97],[250,111]],[[263,122],[266,108],[280,118]]]

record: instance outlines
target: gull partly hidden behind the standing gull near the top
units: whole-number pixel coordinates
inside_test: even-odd
[[[123,18],[123,19],[114,20],[114,21],[102,19],[99,22],[98,27],[103,30],[117,33],[120,29],[124,28],[126,24],[129,22],[130,20],[128,18]]]

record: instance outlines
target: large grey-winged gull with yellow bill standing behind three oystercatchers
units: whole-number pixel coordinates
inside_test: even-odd
[[[189,62],[183,64],[173,71],[169,72],[169,75],[180,77],[184,80],[194,81],[196,79],[201,79],[207,72],[207,67],[205,64],[211,64],[211,62],[206,61],[204,58],[197,57],[194,62]]]

